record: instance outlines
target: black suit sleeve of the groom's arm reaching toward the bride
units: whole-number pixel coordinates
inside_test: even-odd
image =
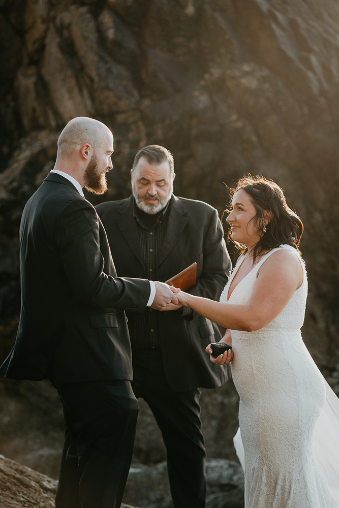
[[[78,300],[100,307],[144,310],[150,294],[147,279],[114,278],[104,273],[98,216],[87,201],[72,201],[60,212],[55,241]]]

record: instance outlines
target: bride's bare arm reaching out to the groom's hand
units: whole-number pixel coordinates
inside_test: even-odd
[[[182,305],[192,307],[218,325],[253,332],[281,313],[301,285],[302,278],[298,257],[282,249],[274,252],[260,267],[248,305],[214,302],[183,292],[176,296]]]

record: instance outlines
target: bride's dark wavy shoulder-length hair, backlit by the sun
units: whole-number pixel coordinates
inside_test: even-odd
[[[256,221],[261,238],[253,249],[253,262],[262,251],[274,249],[282,244],[291,245],[298,250],[303,225],[298,215],[286,204],[283,190],[279,185],[263,176],[249,175],[240,178],[237,186],[229,190],[230,205],[234,194],[238,190],[244,190],[250,196],[256,209],[257,213],[252,220]],[[230,213],[231,209],[225,212]],[[264,232],[265,210],[271,212],[271,219]],[[228,239],[231,239],[231,230],[228,233]],[[246,245],[234,243],[241,253],[246,252]]]

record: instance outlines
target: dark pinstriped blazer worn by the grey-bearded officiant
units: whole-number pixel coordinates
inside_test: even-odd
[[[96,207],[120,277],[144,277],[138,231],[133,217],[133,197],[101,203]],[[165,281],[197,262],[197,284],[190,293],[218,300],[231,270],[224,231],[218,212],[201,201],[172,196],[167,229],[158,259],[155,280]],[[182,317],[178,311],[158,315],[165,375],[177,391],[223,384],[228,370],[213,365],[205,347],[221,338],[217,325],[193,312]],[[127,312],[129,323],[140,319]]]

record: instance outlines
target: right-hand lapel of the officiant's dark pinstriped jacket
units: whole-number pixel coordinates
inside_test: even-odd
[[[186,206],[184,206],[184,204],[180,202],[178,198],[172,196],[170,213],[167,221],[167,228],[163,245],[158,259],[158,266],[165,260],[170,251],[174,248],[184,227],[187,225],[189,219],[183,215],[186,211]]]

